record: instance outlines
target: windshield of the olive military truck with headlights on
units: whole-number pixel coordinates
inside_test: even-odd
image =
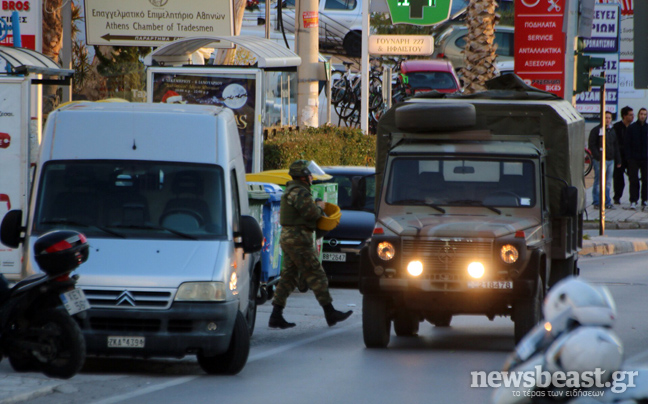
[[[536,204],[531,160],[397,158],[391,165],[390,205],[530,208]]]

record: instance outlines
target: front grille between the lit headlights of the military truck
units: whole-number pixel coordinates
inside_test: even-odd
[[[492,249],[490,242],[405,239],[402,267],[418,259],[427,274],[445,272],[463,277],[472,261],[480,261],[488,268],[493,259]]]

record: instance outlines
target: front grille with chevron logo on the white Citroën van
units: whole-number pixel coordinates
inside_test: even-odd
[[[175,293],[175,289],[82,289],[90,307],[103,309],[166,310]]]

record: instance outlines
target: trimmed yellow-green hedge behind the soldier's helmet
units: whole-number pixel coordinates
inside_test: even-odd
[[[263,169],[288,168],[295,160],[314,160],[320,166],[373,166],[376,137],[360,129],[322,126],[278,131],[263,143]]]

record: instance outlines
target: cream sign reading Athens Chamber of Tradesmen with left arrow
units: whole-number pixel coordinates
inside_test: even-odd
[[[88,45],[161,46],[232,36],[231,0],[85,0]]]

